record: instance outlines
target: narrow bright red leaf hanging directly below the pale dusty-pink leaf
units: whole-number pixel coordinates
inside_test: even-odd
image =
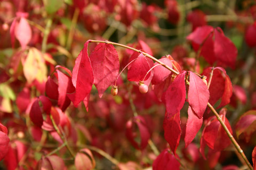
[[[186,124],[185,133],[185,147],[187,147],[195,138],[197,132],[200,130],[203,124],[203,117],[198,116],[193,112],[190,106],[188,106],[188,121]]]

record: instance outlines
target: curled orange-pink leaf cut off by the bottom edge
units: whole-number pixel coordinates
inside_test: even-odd
[[[77,170],[91,170],[95,167],[92,152],[89,149],[82,149],[75,157],[75,167]]]

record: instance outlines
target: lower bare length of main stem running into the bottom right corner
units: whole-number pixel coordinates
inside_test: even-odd
[[[210,103],[207,103],[207,106],[211,109],[211,111],[214,113],[214,115],[217,117],[218,121],[220,122],[221,126],[223,127],[223,129],[226,131],[229,139],[231,140],[231,142],[233,143],[233,145],[235,146],[236,150],[238,151],[238,153],[242,156],[242,158],[244,159],[244,162],[246,163],[246,165],[249,167],[249,169],[253,170],[252,165],[250,164],[249,160],[247,159],[247,157],[244,155],[244,151],[241,149],[241,147],[239,146],[239,144],[237,143],[237,141],[234,139],[233,135],[231,134],[231,132],[228,130],[226,124],[222,121],[220,115],[215,111],[215,109],[213,108],[213,106]]]

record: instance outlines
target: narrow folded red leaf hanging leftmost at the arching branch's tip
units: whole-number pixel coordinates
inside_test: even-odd
[[[94,80],[90,58],[87,53],[89,42],[90,40],[86,41],[84,48],[76,58],[76,63],[72,72],[72,82],[76,91],[73,94],[68,94],[68,97],[75,107],[90,94]]]

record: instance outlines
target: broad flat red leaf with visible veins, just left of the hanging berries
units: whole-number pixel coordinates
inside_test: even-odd
[[[100,43],[90,54],[94,73],[94,84],[99,97],[115,82],[119,72],[119,58],[116,49],[111,44]]]

